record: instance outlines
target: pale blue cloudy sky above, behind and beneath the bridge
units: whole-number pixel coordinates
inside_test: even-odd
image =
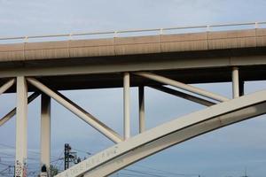
[[[131,28],[178,27],[266,20],[263,0],[0,0],[0,37],[20,35],[69,34]],[[224,96],[231,96],[230,83],[200,84]],[[266,82],[246,82],[246,94],[265,89]],[[64,95],[122,134],[122,90],[101,89],[66,91]],[[147,127],[152,128],[203,107],[146,89]],[[15,104],[15,95],[0,97],[0,115]],[[40,99],[28,109],[29,167],[38,162]],[[168,105],[168,106],[166,106]],[[113,143],[52,101],[52,156],[59,157],[65,142],[74,149],[98,152]],[[137,89],[131,89],[132,134],[137,134]],[[240,176],[245,168],[250,176],[265,176],[266,119],[262,116],[164,150],[151,158],[129,166],[138,171],[151,168],[172,173],[197,173],[201,176]],[[1,162],[12,164],[15,143],[15,119],[0,127]],[[6,146],[7,145],[7,146]],[[1,154],[2,153],[2,154]],[[79,152],[79,156],[85,156]],[[60,165],[61,162],[57,165]],[[4,166],[0,165],[0,171]],[[126,176],[121,171],[119,176]],[[159,172],[158,172],[159,173]],[[166,174],[164,174],[166,175]],[[173,176],[168,173],[166,176]]]

